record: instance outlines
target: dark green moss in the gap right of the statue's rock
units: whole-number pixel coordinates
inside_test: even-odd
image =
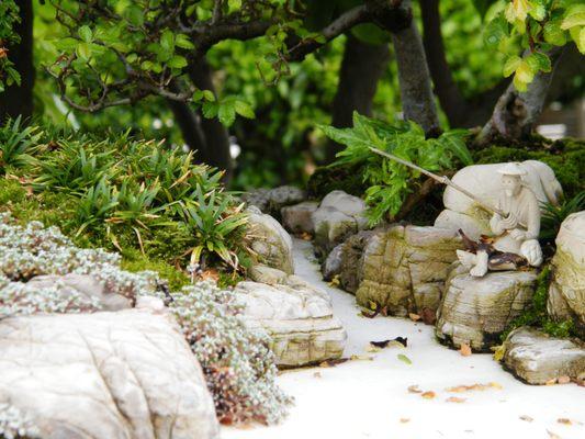
[[[510,322],[506,330],[502,334],[502,341],[506,340],[510,331],[520,326],[533,326],[553,337],[570,337],[575,335],[573,320],[554,322],[549,317],[547,301],[549,299],[550,282],[550,266],[545,266],[537,278],[537,288],[532,296],[532,303],[521,315]]]

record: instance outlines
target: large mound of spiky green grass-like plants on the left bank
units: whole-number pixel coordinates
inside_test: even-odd
[[[222,173],[193,165],[191,154],[135,139],[127,132],[105,139],[45,133],[42,140],[31,149],[34,160],[2,167],[7,178],[29,188],[7,196],[7,202],[21,202],[10,207],[16,215],[20,209],[30,212],[31,204],[45,206],[38,214],[47,215],[48,205],[61,215],[49,224],[88,237],[90,245],[139,248],[171,264],[190,255],[191,264],[203,256],[234,269],[246,260],[243,206],[223,189]],[[204,221],[198,224],[198,218]]]

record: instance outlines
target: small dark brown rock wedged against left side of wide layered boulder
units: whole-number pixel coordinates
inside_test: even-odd
[[[355,294],[361,282],[359,268],[363,249],[373,235],[373,230],[361,230],[336,246],[322,264],[324,279],[337,275],[339,286]]]

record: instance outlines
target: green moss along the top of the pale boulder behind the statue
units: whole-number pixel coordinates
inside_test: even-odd
[[[566,199],[585,189],[585,140],[565,138],[552,144],[533,142],[515,147],[496,144],[473,154],[477,164],[543,161],[554,171]]]

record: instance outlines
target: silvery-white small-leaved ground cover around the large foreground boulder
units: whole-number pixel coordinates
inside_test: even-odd
[[[124,271],[120,259],[115,254],[76,247],[56,227],[44,228],[38,222],[21,227],[0,216],[0,318],[99,311],[99,303],[86,296],[64,297],[58,283],[34,292],[18,282],[40,274],[91,274],[106,282],[109,291],[133,301],[140,295],[166,299],[157,273]],[[267,336],[248,330],[237,316],[240,306],[233,293],[200,282],[172,293],[172,297],[169,309],[202,365],[220,420],[280,420],[290,398],[275,385],[274,354]]]

